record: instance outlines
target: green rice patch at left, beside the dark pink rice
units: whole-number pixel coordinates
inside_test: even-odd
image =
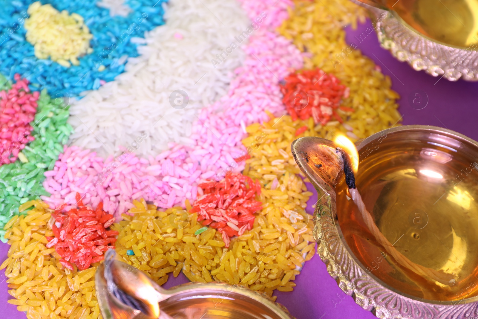
[[[72,131],[66,123],[69,111],[63,99],[51,99],[42,91],[37,104],[31,134],[34,140],[19,153],[21,161],[0,166],[0,227],[19,214],[21,204],[50,195],[42,186],[43,173],[53,169]],[[2,241],[4,233],[0,230]]]

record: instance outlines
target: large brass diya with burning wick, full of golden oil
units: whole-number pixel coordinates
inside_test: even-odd
[[[400,126],[357,148],[303,137],[318,253],[338,286],[379,318],[478,317],[478,143]]]

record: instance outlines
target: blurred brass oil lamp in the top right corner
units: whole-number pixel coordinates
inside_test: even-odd
[[[477,0],[352,1],[369,10],[380,45],[398,60],[451,81],[478,80]]]

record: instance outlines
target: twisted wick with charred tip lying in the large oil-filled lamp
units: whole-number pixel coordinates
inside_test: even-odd
[[[447,274],[443,270],[435,270],[432,268],[424,267],[419,264],[415,264],[410,259],[405,257],[402,253],[397,251],[395,247],[393,247],[391,242],[389,242],[388,239],[381,233],[380,229],[375,224],[375,220],[373,219],[372,215],[370,215],[369,211],[365,207],[365,203],[363,202],[362,197],[360,196],[360,193],[355,186],[355,175],[348,153],[340,147],[336,148],[336,152],[342,155],[342,160],[344,162],[345,182],[348,186],[348,191],[352,196],[352,200],[359,208],[359,212],[362,215],[362,219],[365,221],[367,228],[373,234],[377,242],[379,242],[380,245],[382,245],[385,250],[393,256],[397,263],[401,264],[408,270],[413,271],[415,274],[421,275],[422,277],[425,277],[429,280],[431,279],[432,281],[437,281],[443,285],[454,286],[456,283],[455,275]]]

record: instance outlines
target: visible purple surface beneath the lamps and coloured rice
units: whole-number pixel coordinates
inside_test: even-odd
[[[361,43],[355,36],[370,27],[370,23],[359,25],[358,30],[348,28],[347,41],[355,43],[364,55],[369,56],[391,77],[392,88],[402,97],[399,111],[403,114],[403,124],[423,124],[445,127],[478,140],[478,83],[465,81],[450,82],[444,78],[432,77],[425,72],[414,71],[407,63],[399,62],[390,52],[380,48],[375,33],[371,33]],[[363,38],[363,37],[362,37]],[[418,94],[418,95],[417,95]],[[315,193],[313,187],[309,189]],[[316,196],[309,201],[315,203]],[[10,246],[0,243],[0,261],[7,257]],[[7,293],[4,272],[0,272],[0,305],[3,317],[24,319],[16,306],[7,303],[11,296]],[[183,275],[170,278],[165,288],[185,283]],[[325,264],[315,255],[305,263],[292,293],[277,292],[277,301],[286,306],[297,319],[373,319],[371,313],[356,305],[345,295],[326,271]]]

